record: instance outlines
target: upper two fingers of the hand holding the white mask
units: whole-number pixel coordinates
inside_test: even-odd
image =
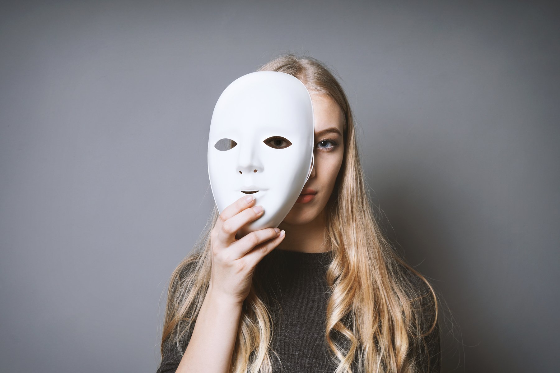
[[[254,202],[255,198],[252,195],[241,197],[223,209],[220,216],[218,216],[214,228],[217,230],[217,239],[222,243],[223,247],[235,241],[235,234],[242,226],[263,215],[262,206],[258,206],[260,207],[260,212],[254,210]]]

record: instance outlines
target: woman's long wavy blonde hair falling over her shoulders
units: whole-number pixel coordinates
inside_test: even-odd
[[[384,238],[376,223],[358,156],[354,120],[346,94],[325,64],[311,56],[284,54],[259,71],[293,75],[310,92],[338,103],[344,113],[344,158],[326,209],[326,240],[330,266],[326,271],[332,294],[326,307],[324,338],[342,372],[427,371],[424,337],[437,322],[437,297],[430,283],[408,266]],[[167,292],[164,344],[176,345],[183,356],[211,275],[209,233],[218,218],[216,206],[193,250],[175,268]],[[274,252],[274,251],[273,251]],[[269,257],[269,256],[267,256]],[[262,270],[242,306],[231,361],[231,372],[272,372],[273,312]],[[411,280],[410,274],[418,281]],[[421,285],[421,286],[419,286]]]

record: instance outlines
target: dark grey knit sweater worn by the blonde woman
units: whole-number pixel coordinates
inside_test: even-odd
[[[272,350],[273,371],[290,373],[334,372],[338,361],[329,356],[324,342],[326,304],[331,294],[325,273],[330,253],[303,253],[274,249],[255,270],[265,275],[262,284],[268,289],[273,314]],[[422,286],[416,275],[408,273],[410,281]],[[426,289],[422,289],[424,292]],[[189,333],[190,335],[190,333]],[[430,372],[440,371],[440,337],[436,328],[426,337]],[[344,346],[343,342],[338,342]],[[183,352],[188,341],[183,343]],[[156,373],[175,372],[181,353],[169,339],[164,343],[164,356]],[[357,359],[354,359],[356,362]],[[356,367],[352,366],[356,372]]]

